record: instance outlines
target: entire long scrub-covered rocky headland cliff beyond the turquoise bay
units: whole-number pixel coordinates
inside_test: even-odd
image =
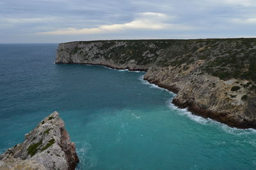
[[[173,103],[232,127],[256,127],[256,38],[61,43],[56,63],[145,71]]]

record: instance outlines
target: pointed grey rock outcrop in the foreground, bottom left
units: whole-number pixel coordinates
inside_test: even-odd
[[[79,159],[63,120],[53,112],[26,134],[26,140],[0,155],[0,167],[75,169]],[[12,163],[12,162],[15,162]],[[36,162],[36,164],[35,164]],[[44,167],[44,168],[43,168]]]

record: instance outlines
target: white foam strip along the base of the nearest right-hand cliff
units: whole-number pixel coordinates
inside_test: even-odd
[[[195,114],[192,114],[191,112],[188,111],[188,108],[185,109],[180,109],[179,107],[175,106],[171,102],[168,102],[168,107],[172,110],[175,110],[179,112],[179,114],[187,116],[193,121],[196,121],[198,123],[204,124],[204,125],[214,125],[216,127],[221,128],[225,132],[229,134],[236,134],[236,135],[241,135],[241,134],[251,134],[251,133],[256,133],[256,130],[253,128],[248,128],[248,129],[240,129],[240,128],[234,128],[234,127],[228,127],[228,125],[225,125],[224,123],[220,123],[216,120],[212,120],[211,118],[203,118],[201,116],[196,116]]]

